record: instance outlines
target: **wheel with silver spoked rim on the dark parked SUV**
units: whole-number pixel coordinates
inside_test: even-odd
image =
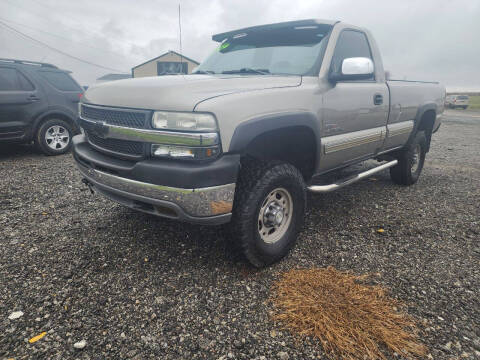
[[[65,154],[72,147],[72,127],[61,119],[45,121],[37,131],[36,146],[45,155]]]

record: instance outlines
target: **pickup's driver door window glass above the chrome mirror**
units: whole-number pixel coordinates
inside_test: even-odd
[[[340,72],[343,59],[351,57],[366,57],[372,59],[372,53],[370,52],[367,37],[363,32],[344,30],[338,37],[330,71]]]

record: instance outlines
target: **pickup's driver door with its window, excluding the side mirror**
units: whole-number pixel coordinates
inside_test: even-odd
[[[330,71],[339,72],[344,59],[366,57],[373,61],[365,33],[343,30]],[[385,83],[371,78],[341,80],[323,97],[324,136],[320,170],[330,170],[371,157],[386,135],[389,95]]]

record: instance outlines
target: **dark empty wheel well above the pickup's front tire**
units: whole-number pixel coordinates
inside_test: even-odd
[[[254,138],[244,155],[261,161],[282,161],[295,166],[308,181],[315,170],[317,144],[312,129],[292,126],[271,130]]]

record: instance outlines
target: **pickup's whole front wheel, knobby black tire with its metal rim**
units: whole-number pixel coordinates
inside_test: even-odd
[[[305,206],[305,183],[294,166],[249,162],[240,172],[230,233],[252,265],[269,265],[295,245]]]

